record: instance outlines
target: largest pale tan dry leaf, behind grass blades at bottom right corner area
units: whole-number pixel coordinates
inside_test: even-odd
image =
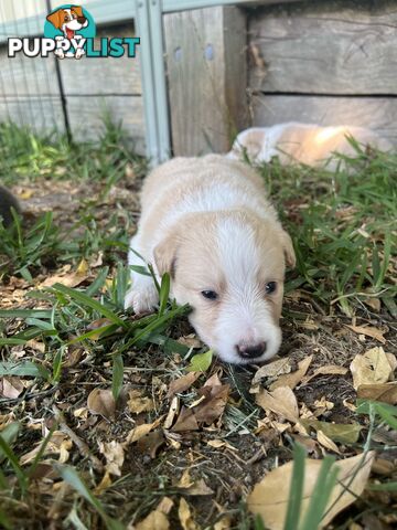
[[[333,466],[339,468],[339,475],[329,499],[328,509],[325,509],[325,516],[321,521],[321,528],[331,522],[340,511],[361,496],[366,486],[374,456],[375,453],[369,452],[366,455],[353,456],[333,464]],[[313,495],[320,467],[321,460],[309,458],[305,460],[300,522]],[[249,511],[260,515],[266,528],[269,530],[283,529],[292,468],[293,463],[289,462],[273,469],[255,486],[253,492],[248,496]]]

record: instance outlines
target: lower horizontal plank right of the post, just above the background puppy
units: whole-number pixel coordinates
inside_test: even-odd
[[[285,121],[369,127],[397,147],[397,98],[259,95],[253,110],[255,127]]]

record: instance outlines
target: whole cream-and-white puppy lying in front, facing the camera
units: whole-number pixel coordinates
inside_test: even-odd
[[[279,318],[290,236],[266,198],[260,177],[223,156],[175,158],[146,179],[142,214],[128,263],[171,275],[171,297],[192,308],[201,339],[227,362],[270,359],[280,347]],[[152,278],[132,272],[125,300],[137,314],[158,304]]]

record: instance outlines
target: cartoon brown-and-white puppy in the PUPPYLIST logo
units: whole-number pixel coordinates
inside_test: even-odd
[[[64,39],[67,39],[68,41],[75,41],[78,43],[83,36],[76,34],[76,32],[83,28],[87,28],[88,25],[88,20],[84,15],[83,8],[81,6],[71,6],[68,9],[58,9],[49,14],[46,20],[63,33],[63,36],[55,36],[56,41],[63,41]],[[62,47],[57,47],[55,51],[55,55],[58,59],[64,59],[65,56],[81,59],[84,53],[85,52],[83,47],[77,47],[75,52],[68,51],[66,53]]]

